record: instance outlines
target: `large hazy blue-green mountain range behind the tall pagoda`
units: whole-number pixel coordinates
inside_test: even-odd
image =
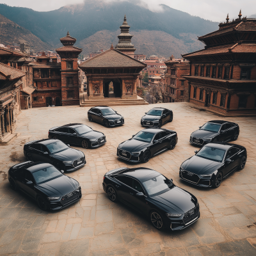
[[[63,6],[51,12],[35,12],[29,8],[0,4],[0,14],[28,29],[43,42],[51,44],[52,47],[61,46],[60,38],[65,36],[67,31],[70,32],[71,36],[77,38],[77,47],[83,47],[86,44],[93,45],[95,41],[89,42],[88,40],[97,37],[100,37],[102,45],[106,44],[104,40],[107,39],[99,36],[99,33],[105,35],[106,31],[109,34],[107,38],[112,36],[114,42],[116,36],[120,33],[117,29],[122,24],[124,14],[126,14],[127,22],[131,26],[131,33],[134,34],[132,43],[135,44],[135,41],[138,43],[135,44],[138,49],[136,53],[141,53],[139,50],[145,49],[145,51],[150,51],[143,52],[147,54],[164,52],[166,47],[162,47],[160,42],[168,45],[167,40],[172,40],[170,45],[173,45],[173,47],[180,48],[180,50],[177,49],[177,52],[202,49],[202,44],[196,42],[196,36],[202,36],[218,29],[217,22],[180,12],[164,4],[161,4],[161,8],[163,9],[162,12],[151,12],[147,8],[129,1],[107,3],[102,0],[86,0],[84,4]],[[148,34],[145,31],[148,31]],[[160,33],[161,38],[157,38],[154,31],[163,32],[164,34]],[[115,33],[115,36],[113,33]],[[143,39],[145,33],[152,35],[154,42],[150,36],[147,36],[146,42]],[[108,48],[109,44],[108,47],[104,47],[104,49]],[[95,45],[92,49],[92,51],[95,51],[99,48]],[[83,54],[84,52],[88,52],[87,49],[84,49]]]

